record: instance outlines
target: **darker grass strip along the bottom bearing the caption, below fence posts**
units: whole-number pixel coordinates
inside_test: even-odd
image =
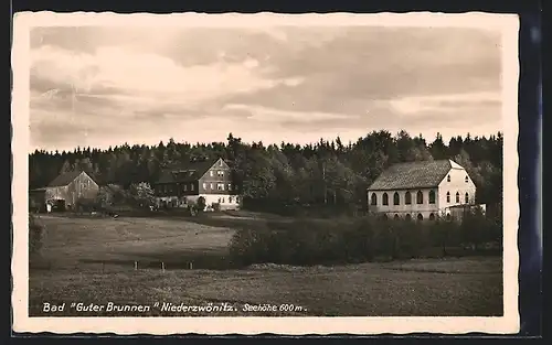
[[[30,314],[43,316],[42,303],[66,303],[61,315],[339,315],[339,316],[490,316],[502,313],[500,260],[465,259],[438,262],[450,272],[421,272],[416,263],[362,263],[343,267],[250,267],[243,270],[135,271],[109,267],[104,273],[87,271],[35,271],[30,279]],[[433,262],[422,262],[427,267]],[[456,267],[466,267],[458,271]],[[454,271],[454,272],[453,272]],[[72,302],[85,304],[144,304],[148,313],[75,313]],[[155,303],[208,305],[227,302],[235,312],[170,313]],[[293,312],[243,312],[245,304],[294,304]]]

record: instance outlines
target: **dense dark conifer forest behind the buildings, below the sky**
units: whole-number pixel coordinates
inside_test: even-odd
[[[406,131],[393,136],[373,131],[344,144],[320,140],[311,144],[282,142],[245,143],[229,134],[226,142],[195,143],[162,141],[157,145],[118,145],[106,150],[76,148],[72,152],[36,150],[29,155],[30,188],[47,185],[62,172],[85,170],[100,183],[153,183],[170,164],[194,157],[225,159],[233,169],[244,202],[266,204],[350,207],[365,203],[365,190],[390,164],[452,159],[466,168],[475,181],[476,201],[488,205],[502,200],[502,133],[490,137],[452,138],[437,133],[427,142]],[[251,203],[255,201],[255,203]],[[498,207],[500,208],[500,207]]]

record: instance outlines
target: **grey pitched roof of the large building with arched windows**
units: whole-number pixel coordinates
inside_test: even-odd
[[[371,191],[428,188],[437,186],[453,166],[450,160],[408,162],[391,165],[369,187]]]

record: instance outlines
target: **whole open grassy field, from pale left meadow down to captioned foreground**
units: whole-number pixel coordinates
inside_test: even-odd
[[[410,260],[336,267],[226,262],[229,227],[179,218],[41,216],[46,265],[30,271],[30,315],[339,315],[486,316],[502,314],[498,257]],[[220,220],[217,220],[220,222]],[[134,262],[139,262],[135,270]],[[160,262],[164,262],[163,272]],[[193,262],[193,269],[189,263]],[[213,269],[217,268],[217,269]],[[145,312],[76,312],[71,303],[141,304]],[[162,303],[233,311],[161,312]],[[294,304],[293,311],[244,312],[246,304]],[[279,309],[279,308],[278,308]]]

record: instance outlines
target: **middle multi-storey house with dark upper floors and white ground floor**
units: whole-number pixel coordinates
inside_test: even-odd
[[[153,184],[159,207],[188,207],[200,197],[205,209],[219,204],[221,209],[240,208],[241,198],[231,169],[223,159],[192,160],[162,171]]]

